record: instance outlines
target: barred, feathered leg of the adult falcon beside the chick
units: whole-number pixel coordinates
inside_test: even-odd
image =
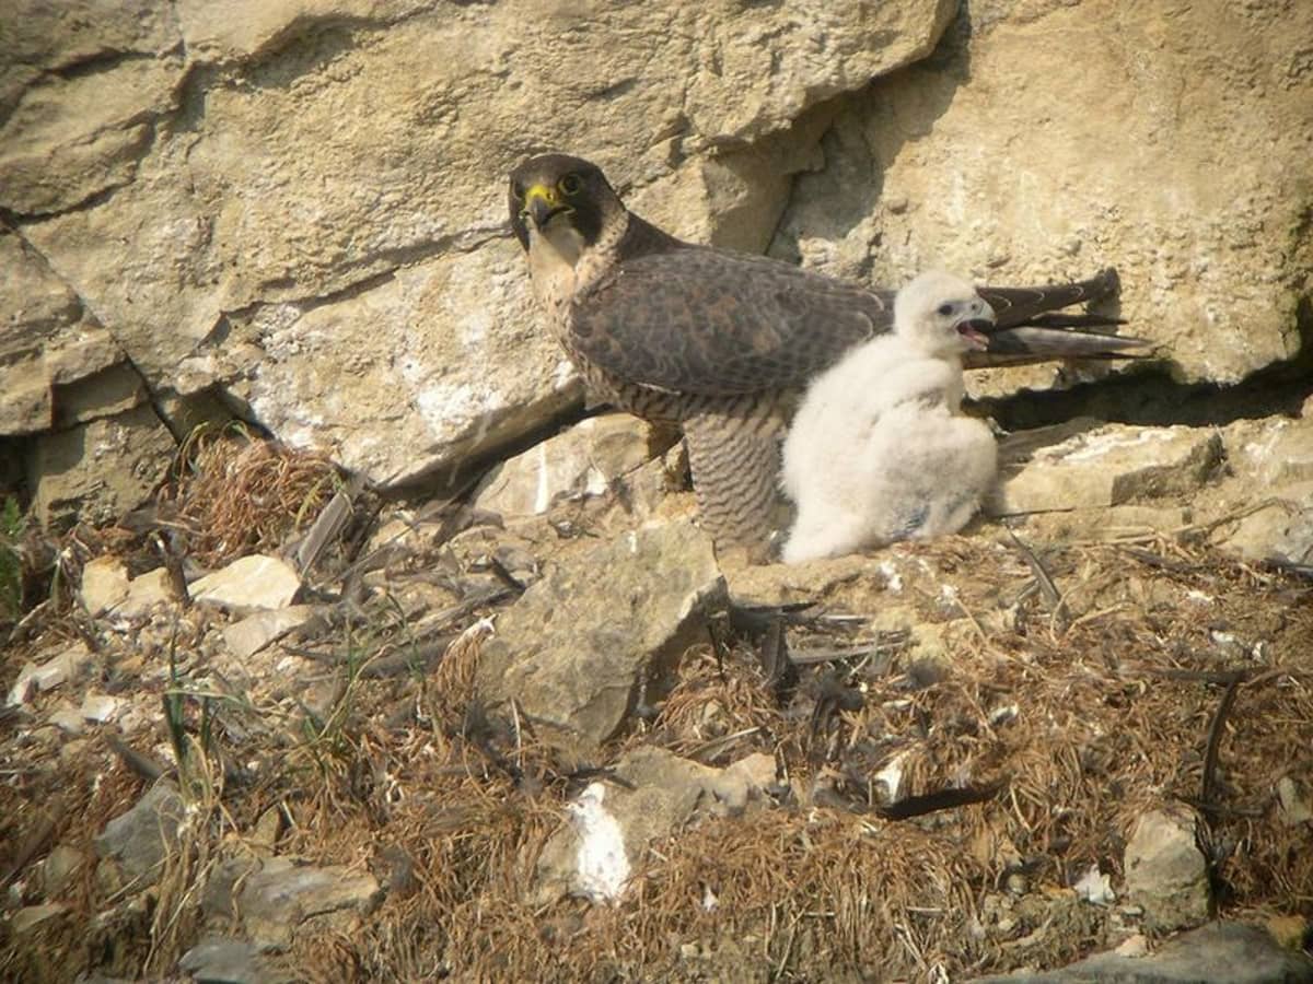
[[[754,560],[764,560],[771,546],[781,424],[776,408],[758,400],[735,400],[683,421],[702,529],[717,547],[746,547]]]

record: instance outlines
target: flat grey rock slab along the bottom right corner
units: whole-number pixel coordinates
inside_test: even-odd
[[[972,984],[1310,984],[1313,959],[1283,950],[1262,929],[1211,922],[1149,956],[1098,954],[1046,974],[976,977]]]

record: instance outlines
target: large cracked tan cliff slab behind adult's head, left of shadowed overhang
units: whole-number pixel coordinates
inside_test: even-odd
[[[523,156],[597,156],[655,218],[762,248],[814,108],[927,54],[953,9],[188,0],[87,16],[96,55],[41,12],[0,205],[158,405],[213,386],[398,483],[580,398],[504,234]],[[70,58],[100,60],[50,71]],[[574,109],[534,112],[527,142],[530,104]]]

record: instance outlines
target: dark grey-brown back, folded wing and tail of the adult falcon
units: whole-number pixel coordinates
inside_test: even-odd
[[[618,262],[572,311],[570,342],[629,383],[704,396],[805,386],[853,345],[893,327],[894,291],[872,291],[762,256],[681,243],[638,216]],[[1116,289],[1104,270],[1078,283],[981,287],[1003,331],[968,366],[1102,358],[1146,342],[1057,327],[1117,323],[1048,315]],[[1027,328],[1041,324],[1046,327]]]

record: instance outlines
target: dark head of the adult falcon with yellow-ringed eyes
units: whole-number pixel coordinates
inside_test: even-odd
[[[511,172],[511,228],[520,245],[548,239],[572,264],[608,222],[625,214],[601,168],[582,157],[544,154]]]

